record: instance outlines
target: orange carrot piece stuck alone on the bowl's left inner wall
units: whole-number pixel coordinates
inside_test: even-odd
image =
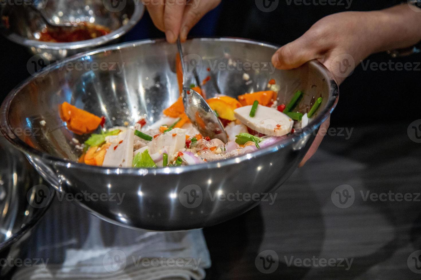
[[[61,120],[67,123],[67,128],[77,134],[91,133],[98,128],[101,118],[85,110],[79,109],[67,102],[59,108]]]

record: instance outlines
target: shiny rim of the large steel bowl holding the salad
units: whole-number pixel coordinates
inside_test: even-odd
[[[265,47],[271,47],[274,50],[278,50],[280,47],[280,46],[269,44],[266,42],[258,42],[251,39],[242,39],[242,38],[234,38],[234,37],[218,37],[218,38],[206,37],[206,38],[193,38],[191,40],[219,41],[219,42],[244,42],[248,44],[256,44],[256,45],[261,45]],[[130,174],[131,175],[136,175],[136,174],[147,175],[148,173],[152,173],[153,175],[180,174],[180,173],[190,172],[190,171],[200,170],[200,169],[212,169],[212,168],[224,167],[227,165],[240,163],[245,160],[250,160],[253,157],[264,156],[266,154],[276,152],[277,150],[282,149],[283,147],[286,147],[290,144],[293,144],[294,142],[299,141],[301,138],[305,137],[306,135],[313,133],[329,117],[330,113],[333,112],[333,110],[336,107],[336,104],[338,103],[339,89],[338,89],[338,84],[336,80],[334,79],[334,76],[330,73],[330,71],[324,65],[322,65],[322,63],[320,63],[317,60],[311,60],[308,63],[311,63],[315,67],[319,68],[320,71],[329,78],[329,82],[330,82],[330,92],[329,92],[329,100],[327,101],[328,102],[327,106],[325,107],[324,110],[322,110],[322,112],[319,115],[317,115],[317,118],[315,118],[309,123],[309,127],[311,127],[311,129],[307,129],[298,135],[296,133],[293,133],[287,138],[283,139],[282,141],[277,142],[277,144],[266,147],[264,149],[259,149],[258,151],[253,152],[251,154],[245,154],[240,157],[219,160],[216,162],[208,162],[206,164],[188,165],[188,166],[171,167],[171,168],[170,167],[161,167],[161,168],[154,168],[154,169],[130,168],[130,167],[116,168],[116,167],[85,165],[83,163],[74,162],[71,160],[66,160],[59,157],[51,156],[50,154],[41,152],[33,147],[30,147],[28,144],[22,141],[18,136],[16,136],[16,134],[14,134],[13,131],[11,130],[11,127],[8,122],[8,110],[9,110],[10,103],[12,102],[13,98],[20,91],[21,88],[26,86],[30,81],[36,79],[38,75],[43,75],[43,72],[51,71],[56,68],[59,68],[59,65],[60,65],[59,63],[67,63],[71,60],[77,60],[88,55],[94,55],[100,52],[107,52],[111,50],[118,50],[118,49],[122,49],[129,46],[136,47],[142,44],[159,43],[159,42],[164,42],[164,41],[165,39],[145,39],[145,40],[140,40],[140,41],[135,41],[135,42],[128,42],[124,44],[115,44],[109,47],[103,47],[101,49],[80,53],[72,57],[69,57],[65,60],[60,60],[57,63],[47,66],[45,70],[37,73],[35,77],[28,78],[25,81],[23,81],[20,85],[16,86],[5,97],[0,107],[0,128],[3,127],[3,129],[1,129],[3,135],[9,142],[11,142],[11,144],[13,144],[14,147],[21,150],[22,152],[26,154],[30,154],[32,156],[40,157],[42,160],[47,160],[48,162],[53,163],[54,165],[66,166],[67,168],[70,168],[70,167],[83,168],[87,171],[92,171],[93,173],[100,172],[100,173],[106,173],[106,174],[129,174],[129,175]],[[5,133],[4,129],[7,130],[7,133]],[[8,133],[13,133],[14,135],[13,138],[10,137]]]

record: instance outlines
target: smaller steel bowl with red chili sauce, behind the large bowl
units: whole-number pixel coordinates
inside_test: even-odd
[[[45,60],[45,63],[92,50],[104,44],[116,43],[117,39],[138,23],[145,10],[142,2],[137,0],[29,1],[29,4],[41,5],[40,9],[56,23],[87,22],[111,30],[111,33],[94,39],[53,43],[37,40],[41,30],[46,26],[42,16],[25,1],[20,5],[12,2],[4,1],[0,5],[0,33],[12,42],[28,47],[29,52]]]

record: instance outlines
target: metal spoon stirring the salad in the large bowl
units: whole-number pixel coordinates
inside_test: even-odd
[[[192,123],[204,136],[210,139],[218,138],[224,143],[228,142],[228,136],[224,130],[215,112],[209,107],[208,103],[195,90],[190,89],[187,84],[187,70],[183,63],[183,49],[181,47],[180,38],[177,39],[177,47],[179,49],[181,69],[183,72],[183,102],[184,110]],[[178,67],[178,65],[177,65]]]

